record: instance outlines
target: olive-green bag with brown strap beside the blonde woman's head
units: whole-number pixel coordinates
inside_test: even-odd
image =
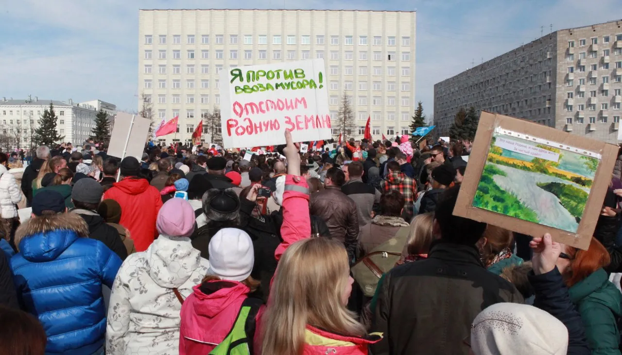
[[[411,227],[399,228],[393,238],[377,246],[351,267],[352,277],[361,287],[364,295],[373,297],[380,277],[395,266],[410,234]]]

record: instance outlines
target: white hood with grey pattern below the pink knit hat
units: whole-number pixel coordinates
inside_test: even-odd
[[[167,289],[182,285],[201,264],[201,252],[192,247],[190,238],[160,234],[145,253],[149,276]]]

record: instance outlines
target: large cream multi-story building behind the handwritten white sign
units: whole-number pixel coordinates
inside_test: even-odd
[[[415,15],[141,10],[140,96],[151,101],[156,122],[179,115],[179,133],[162,138],[189,142],[199,120],[220,104],[223,68],[324,58],[332,116],[346,94],[355,112],[353,136],[363,136],[370,116],[374,138],[408,133],[415,104]]]

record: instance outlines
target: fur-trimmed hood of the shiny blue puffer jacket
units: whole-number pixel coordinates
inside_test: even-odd
[[[15,243],[24,259],[42,263],[58,258],[80,237],[88,237],[84,220],[72,213],[33,217],[17,228]]]

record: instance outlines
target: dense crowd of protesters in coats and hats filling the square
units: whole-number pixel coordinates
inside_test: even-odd
[[[468,141],[285,140],[0,153],[0,349],[621,354],[619,167],[582,250],[453,215]]]

